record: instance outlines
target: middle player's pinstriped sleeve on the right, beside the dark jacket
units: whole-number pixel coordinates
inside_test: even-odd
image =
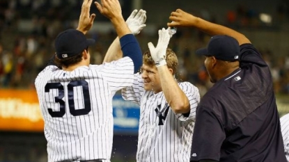
[[[200,102],[200,92],[196,86],[192,85],[189,82],[182,82],[179,84],[180,88],[183,92],[185,92],[187,98],[189,99],[190,104],[190,111],[187,114],[178,113],[175,114],[179,120],[186,121],[186,120],[196,120],[196,107]]]

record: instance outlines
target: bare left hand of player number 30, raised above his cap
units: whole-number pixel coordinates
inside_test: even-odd
[[[93,26],[93,21],[95,19],[94,13],[90,15],[92,2],[93,0],[84,0],[81,6],[81,13],[79,16],[77,30],[81,31],[84,34],[86,34],[86,32],[91,29],[91,27]]]

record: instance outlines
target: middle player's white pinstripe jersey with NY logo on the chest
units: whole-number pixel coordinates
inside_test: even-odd
[[[189,115],[175,114],[163,92],[155,94],[143,89],[141,74],[134,74],[133,86],[122,90],[125,100],[140,105],[139,140],[136,161],[189,161],[196,117],[200,101],[198,88],[189,82],[178,83],[191,105]]]

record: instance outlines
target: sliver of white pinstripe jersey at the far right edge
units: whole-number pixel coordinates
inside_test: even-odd
[[[286,159],[289,162],[289,113],[280,118]]]

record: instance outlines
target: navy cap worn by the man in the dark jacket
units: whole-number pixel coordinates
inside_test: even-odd
[[[214,56],[219,60],[239,60],[240,45],[237,40],[228,35],[214,35],[207,48],[196,50],[197,55]]]

